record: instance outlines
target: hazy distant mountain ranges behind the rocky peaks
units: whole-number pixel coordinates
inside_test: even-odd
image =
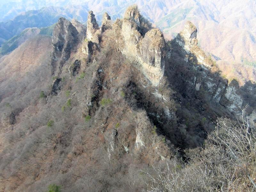
[[[14,1],[15,2],[15,1]],[[17,9],[26,5],[26,9]],[[240,75],[239,72],[244,68],[244,60],[249,63],[256,61],[256,2],[253,0],[117,0],[117,1],[19,1],[14,3],[3,2],[0,10],[9,10],[8,14],[16,11],[28,9],[39,9],[22,13],[12,21],[0,23],[3,31],[0,35],[0,44],[13,35],[18,35],[28,27],[46,27],[57,22],[60,16],[68,20],[76,19],[82,23],[87,18],[87,12],[92,10],[96,14],[96,19],[101,23],[104,12],[111,15],[112,20],[121,17],[125,8],[131,4],[138,4],[140,12],[145,15],[157,28],[160,28],[166,39],[174,38],[182,29],[186,20],[191,20],[198,28],[199,46],[204,51],[211,53],[213,58],[218,60],[220,69],[228,76],[238,76],[241,81],[243,78],[256,81],[255,69],[248,69],[248,75]],[[7,6],[8,5],[8,6]],[[3,8],[5,6],[5,8]],[[60,7],[62,8],[60,8]],[[7,13],[2,11],[0,18],[7,18]],[[13,14],[13,15],[15,15]],[[10,17],[9,17],[10,18]],[[34,22],[34,21],[42,22]],[[15,28],[13,28],[15,26]],[[241,59],[243,58],[243,59]],[[234,64],[239,66],[235,67]],[[247,63],[248,63],[247,62]],[[248,66],[248,65],[246,65]],[[249,65],[250,66],[250,65]],[[253,66],[253,65],[252,65]],[[227,71],[226,68],[231,68]],[[236,71],[230,73],[230,71]],[[251,72],[251,70],[253,72]]]

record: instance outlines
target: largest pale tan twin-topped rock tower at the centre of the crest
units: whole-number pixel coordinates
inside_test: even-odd
[[[141,26],[147,25],[142,18],[136,7],[127,9],[121,30],[124,39],[122,53],[134,59],[136,67],[156,86],[164,76],[164,36],[157,28],[150,30],[145,30],[150,28],[149,26],[142,28]]]

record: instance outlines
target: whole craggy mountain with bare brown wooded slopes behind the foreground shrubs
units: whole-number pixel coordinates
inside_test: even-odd
[[[249,103],[256,120],[255,84],[221,77],[191,22],[172,41],[136,6],[102,26],[90,11],[86,35],[73,23],[0,59],[2,191],[151,190],[150,166],[180,169],[218,116]]]

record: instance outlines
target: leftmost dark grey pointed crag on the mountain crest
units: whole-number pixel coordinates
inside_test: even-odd
[[[52,74],[59,74],[78,43],[78,31],[72,23],[61,17],[52,33]]]

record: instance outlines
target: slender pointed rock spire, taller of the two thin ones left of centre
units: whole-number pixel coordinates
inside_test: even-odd
[[[99,25],[95,19],[95,15],[93,14],[92,11],[89,11],[88,17],[87,17],[86,37],[89,41],[99,44],[100,34],[101,34],[101,30],[99,29]]]

